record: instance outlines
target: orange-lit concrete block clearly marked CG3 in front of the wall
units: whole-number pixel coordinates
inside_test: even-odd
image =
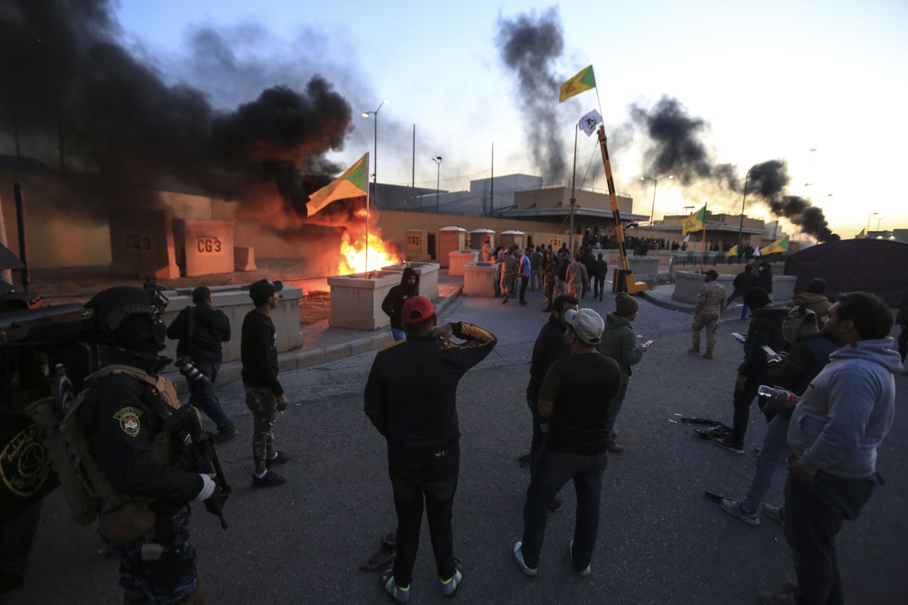
[[[232,273],[233,222],[173,221],[177,264],[185,277]]]

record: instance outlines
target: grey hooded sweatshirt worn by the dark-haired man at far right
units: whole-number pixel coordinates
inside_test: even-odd
[[[903,370],[893,339],[836,349],[792,413],[788,445],[807,473],[860,479],[876,471],[876,450],[893,425],[895,379]]]

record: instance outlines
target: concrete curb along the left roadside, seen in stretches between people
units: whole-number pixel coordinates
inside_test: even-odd
[[[463,286],[456,289],[450,296],[442,298],[435,306],[435,312],[441,314],[463,293]],[[438,301],[439,299],[435,299]],[[316,347],[314,349],[298,349],[296,351],[282,352],[278,355],[279,372],[293,372],[319,363],[336,362],[339,359],[359,355],[361,352],[373,351],[391,341],[390,332],[386,329],[377,330],[368,336],[357,338],[350,342],[335,344],[330,347]],[[305,347],[305,344],[303,344]],[[165,372],[164,377],[176,384],[177,392],[189,392],[186,381],[180,379],[180,372]],[[242,378],[242,362],[234,360],[223,363],[218,372],[217,383],[223,386]]]

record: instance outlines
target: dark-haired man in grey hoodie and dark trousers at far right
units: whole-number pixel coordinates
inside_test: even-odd
[[[873,294],[844,294],[826,314],[823,331],[838,349],[797,402],[788,428],[793,454],[785,483],[785,540],[797,587],[762,593],[762,603],[844,600],[835,536],[882,483],[876,451],[893,424],[893,372],[903,370],[892,329],[892,312]]]

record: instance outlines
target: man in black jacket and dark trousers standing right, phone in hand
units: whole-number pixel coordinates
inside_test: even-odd
[[[763,288],[751,288],[744,295],[744,303],[754,312],[747,328],[747,339],[744,342],[744,362],[738,366],[735,378],[735,420],[732,422],[730,435],[717,439],[716,445],[738,454],[744,453],[744,437],[747,432],[747,421],[750,419],[750,404],[754,402],[756,390],[769,380],[766,368],[764,346],[775,352],[782,350],[785,339],[782,337],[782,317],[787,309],[776,309],[770,306],[769,294]]]

